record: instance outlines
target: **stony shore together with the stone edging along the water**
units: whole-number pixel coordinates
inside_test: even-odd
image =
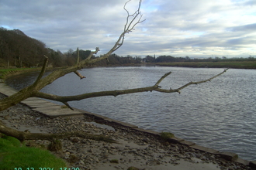
[[[40,131],[40,133],[56,133],[63,130],[71,131],[71,129],[74,128],[72,129],[73,131],[79,129],[96,134],[108,134],[113,139],[123,143],[123,145],[116,145],[81,138],[62,140],[64,153],[59,156],[70,161],[71,155],[77,155],[76,158],[78,158],[78,160],[74,162],[72,166],[80,166],[81,169],[102,169],[103,167],[105,167],[104,169],[108,169],[106,167],[109,167],[109,169],[127,169],[129,165],[135,167],[137,165],[137,168],[161,168],[163,170],[170,168],[184,169],[184,165],[187,166],[186,168],[195,167],[195,169],[206,169],[206,167],[207,169],[253,169],[251,167],[255,166],[255,162],[247,162],[240,158],[234,160],[237,157],[234,153],[221,153],[211,148],[194,145],[194,143],[181,138],[169,138],[168,142],[163,141],[159,137],[159,133],[155,131],[140,129],[132,124],[115,121],[108,117],[92,114],[83,110],[80,111],[84,114],[78,117],[50,118],[22,104],[18,104],[17,107],[14,106],[8,109],[9,111],[4,110],[0,112],[0,114],[4,115],[6,112],[14,114],[14,117],[9,115],[6,120],[6,117],[2,116],[0,119],[5,121],[5,124],[9,122],[11,128],[18,128],[23,131],[26,130],[23,128],[29,128],[31,132],[36,132],[37,128],[37,132]],[[10,112],[11,109],[13,109],[13,112]],[[20,115],[20,118],[17,118],[16,116],[19,116],[16,113],[17,110],[26,110],[28,113],[24,113]],[[30,124],[28,124],[26,117],[31,121]],[[17,122],[13,124],[13,121]],[[40,121],[43,121],[43,123]],[[93,124],[88,125],[88,121],[106,124],[114,128],[115,131],[99,128]],[[37,124],[35,122],[37,122]],[[18,123],[19,125],[17,125]],[[72,128],[70,129],[69,127]],[[79,151],[78,148],[82,148],[82,151]],[[106,157],[104,157],[104,154]],[[119,160],[119,163],[115,164],[110,162],[114,159]],[[227,161],[227,159],[229,161]],[[140,162],[137,162],[137,160],[140,160]]]

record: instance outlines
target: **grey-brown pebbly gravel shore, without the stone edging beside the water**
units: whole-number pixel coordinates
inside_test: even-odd
[[[4,97],[0,93],[0,98]],[[104,134],[119,142],[107,143],[84,138],[61,139],[62,151],[53,152],[64,158],[69,168],[80,169],[252,169],[247,165],[229,162],[217,155],[197,151],[185,145],[171,144],[150,134],[130,128],[102,126],[83,116],[49,118],[22,104],[0,112],[0,120],[10,128],[31,133],[61,133],[84,131]],[[33,144],[49,145],[49,141]],[[135,169],[135,168],[133,168]]]

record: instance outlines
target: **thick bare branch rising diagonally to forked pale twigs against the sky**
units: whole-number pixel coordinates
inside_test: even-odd
[[[130,2],[130,1],[128,1],[128,2]],[[126,2],[126,4],[128,2]],[[123,7],[125,10],[126,10],[126,4]],[[50,73],[48,76],[42,78],[43,73],[45,71],[45,67],[47,66],[47,59],[46,59],[45,64],[43,65],[43,69],[42,69],[40,75],[38,76],[38,78],[36,79],[36,82],[33,83],[33,85],[30,85],[29,87],[25,87],[24,89],[20,90],[18,93],[15,93],[10,97],[6,97],[3,100],[0,100],[0,111],[5,110],[8,107],[11,107],[12,105],[18,104],[20,101],[25,100],[28,97],[32,97],[32,93],[41,90],[43,87],[46,87],[48,84],[53,83],[54,80],[57,80],[58,78],[66,75],[67,73],[74,72],[80,78],[84,78],[84,76],[82,76],[80,73],[78,73],[78,70],[81,70],[88,63],[95,63],[102,59],[108,59],[108,56],[111,53],[113,53],[114,51],[116,51],[116,49],[119,49],[119,47],[123,45],[123,40],[124,40],[124,36],[126,35],[126,33],[131,32],[134,29],[134,27],[137,26],[137,24],[144,22],[144,20],[143,21],[140,20],[142,17],[141,12],[140,12],[140,5],[141,5],[141,0],[139,2],[137,11],[134,12],[133,15],[130,15],[129,12],[126,10],[126,12],[128,12],[128,13],[127,13],[126,24],[124,26],[124,30],[120,34],[119,39],[117,39],[116,43],[114,44],[114,46],[112,46],[112,49],[110,49],[108,53],[106,53],[105,55],[103,55],[99,58],[92,59],[92,56],[99,52],[99,47],[96,47],[95,51],[92,51],[86,59],[83,59],[81,61],[77,60],[77,63],[74,66],[69,66],[67,68],[55,70],[54,72]],[[138,19],[138,16],[140,16],[139,19]],[[129,20],[130,17],[132,17],[131,20]],[[138,19],[138,20],[136,20],[136,19]]]

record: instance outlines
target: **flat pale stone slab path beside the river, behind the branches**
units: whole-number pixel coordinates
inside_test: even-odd
[[[11,96],[14,93],[17,93],[18,90],[13,89],[12,87],[7,86],[3,81],[0,80],[0,93],[5,94],[6,96]],[[79,110],[71,110],[67,107],[61,107],[59,104],[51,103],[50,101],[40,99],[38,97],[29,97],[26,100],[21,102],[31,107],[32,110],[36,110],[41,114],[45,114],[48,117],[60,117],[60,116],[73,116],[85,114]]]

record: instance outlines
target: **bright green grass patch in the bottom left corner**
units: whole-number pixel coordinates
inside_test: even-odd
[[[18,139],[9,136],[0,138],[0,167],[3,170],[14,168],[64,168],[64,160],[52,155],[50,151],[29,148],[21,145]]]

